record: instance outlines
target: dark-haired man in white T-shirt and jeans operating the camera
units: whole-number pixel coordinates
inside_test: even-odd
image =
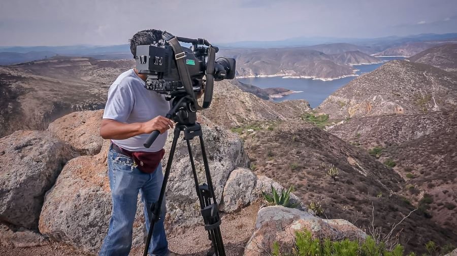
[[[135,57],[138,45],[152,44],[160,37],[160,30],[139,31],[129,40],[130,51]],[[170,110],[170,103],[163,95],[144,87],[146,78],[137,69],[128,70],[108,91],[100,135],[112,142],[108,152],[108,175],[113,208],[101,256],[128,255],[140,191],[149,231],[150,207],[158,200],[164,179],[160,159],[164,155],[167,130],[173,127],[173,122],[164,117]],[[145,148],[143,143],[154,130],[160,131],[160,135],[150,148]],[[165,200],[160,220],[155,223],[152,233],[150,255],[176,255],[168,250],[164,217]]]

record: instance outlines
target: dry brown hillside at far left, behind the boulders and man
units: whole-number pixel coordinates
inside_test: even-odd
[[[102,109],[115,78],[130,60],[54,57],[0,66],[0,137],[20,129],[46,129],[73,111]]]

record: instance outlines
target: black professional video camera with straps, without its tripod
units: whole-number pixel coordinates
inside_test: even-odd
[[[192,47],[182,47],[178,41],[190,43]],[[137,46],[135,59],[139,73],[148,76],[146,89],[166,94],[168,100],[184,95],[192,97],[205,83],[202,108],[208,108],[214,80],[235,78],[235,59],[219,57],[215,60],[218,51],[219,48],[205,39],[174,37],[165,31],[157,42]],[[190,85],[186,84],[188,77]]]

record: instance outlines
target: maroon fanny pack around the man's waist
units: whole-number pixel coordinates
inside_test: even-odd
[[[144,173],[153,173],[165,154],[165,149],[163,148],[157,152],[128,151],[113,142],[111,142],[111,148],[119,154],[132,158],[138,169]]]

